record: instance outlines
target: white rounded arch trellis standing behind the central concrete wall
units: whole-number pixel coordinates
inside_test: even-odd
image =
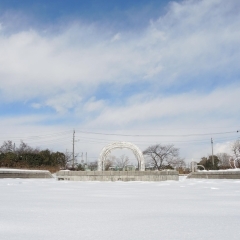
[[[115,148],[128,148],[132,150],[133,154],[138,160],[139,171],[145,171],[145,161],[141,150],[135,144],[132,144],[130,142],[115,142],[105,146],[102,149],[100,156],[98,158],[98,171],[103,171],[104,163],[108,154],[110,154],[111,151]]]

